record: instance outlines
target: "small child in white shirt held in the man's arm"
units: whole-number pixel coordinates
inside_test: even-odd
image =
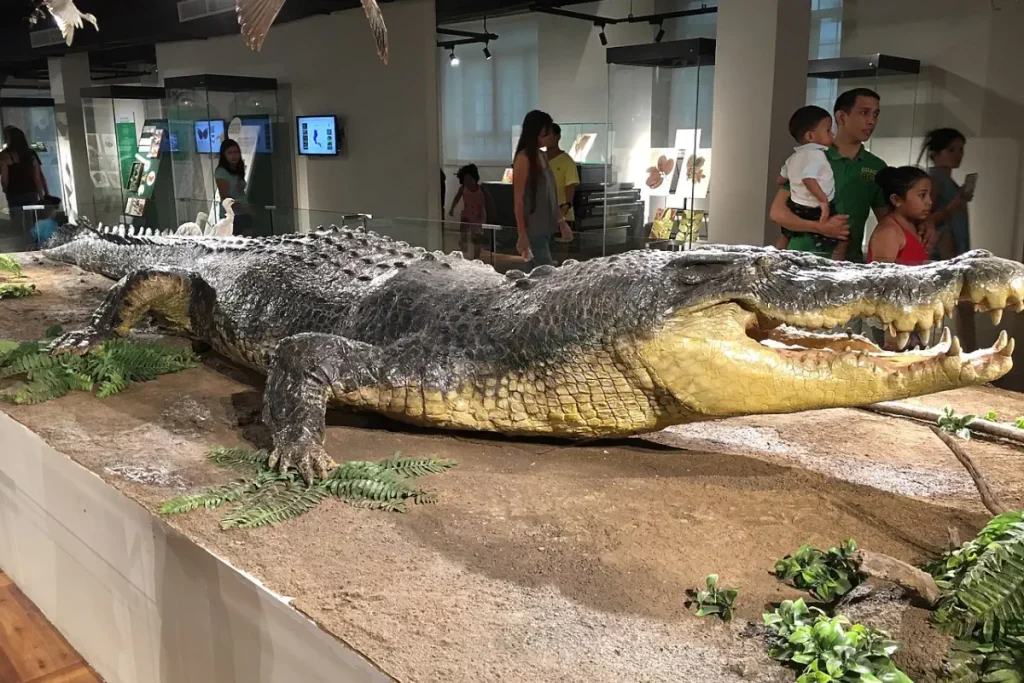
[[[797,141],[793,155],[785,160],[779,176],[779,183],[790,182],[790,199],[785,205],[790,211],[804,220],[825,222],[836,213],[833,200],[836,199],[836,178],[825,152],[833,143],[833,120],[828,112],[820,106],[801,106],[790,118],[790,134]],[[785,249],[793,232],[782,228],[782,236],[775,247]],[[849,244],[814,234],[814,245],[831,253],[833,259],[846,258]]]

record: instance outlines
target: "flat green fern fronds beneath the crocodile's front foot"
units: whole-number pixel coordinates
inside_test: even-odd
[[[266,451],[215,447],[207,453],[207,458],[221,467],[246,471],[249,476],[167,501],[160,508],[162,514],[238,503],[221,520],[221,528],[256,528],[298,517],[329,496],[355,507],[406,512],[409,503],[435,502],[431,494],[417,485],[417,477],[441,473],[456,465],[453,460],[402,458],[396,452],[376,463],[342,463],[326,479],[308,485],[295,472],[270,469]]]

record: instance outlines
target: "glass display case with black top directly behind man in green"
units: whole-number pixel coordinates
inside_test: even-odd
[[[807,72],[807,103],[833,111],[840,93],[869,88],[882,97],[882,115],[864,146],[890,166],[916,164],[921,151],[918,104],[921,62],[890,54],[812,59]]]

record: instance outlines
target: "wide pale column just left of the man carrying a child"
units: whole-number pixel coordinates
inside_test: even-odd
[[[715,53],[711,242],[762,246],[787,123],[807,96],[811,0],[721,2]]]

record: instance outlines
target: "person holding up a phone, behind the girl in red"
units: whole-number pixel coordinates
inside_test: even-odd
[[[948,259],[971,251],[971,225],[967,205],[974,199],[953,180],[952,171],[964,161],[967,137],[955,128],[938,128],[925,135],[921,158],[928,155],[928,175],[932,178],[932,215],[936,244],[933,258]]]

